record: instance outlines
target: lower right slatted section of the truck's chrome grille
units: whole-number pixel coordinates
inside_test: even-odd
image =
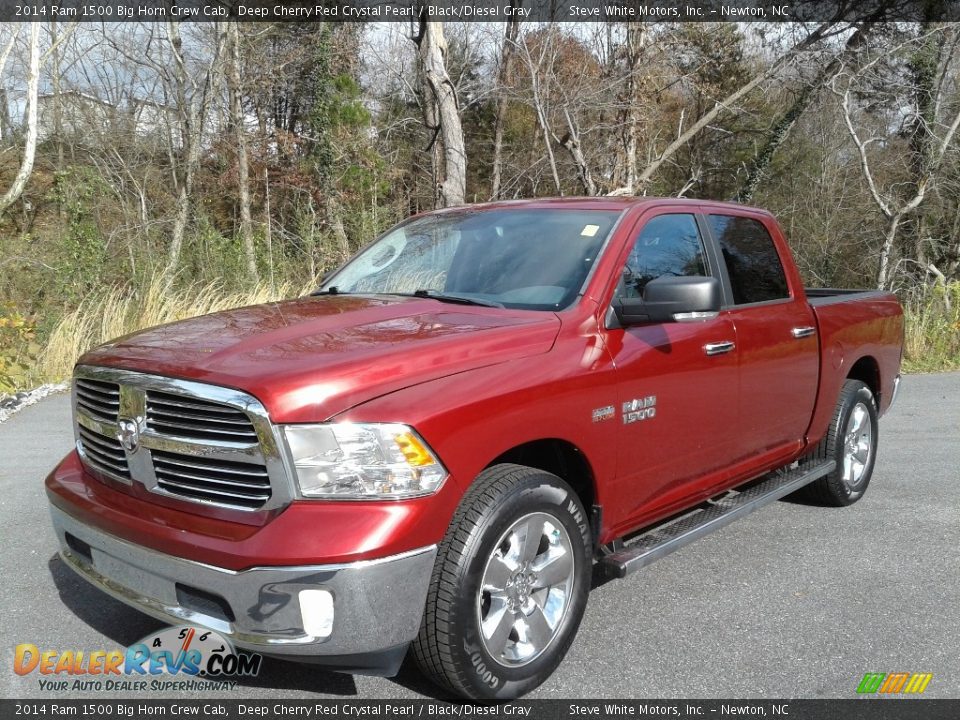
[[[270,476],[263,465],[207,460],[154,450],[157,484],[172,495],[226,502],[250,509],[270,499]]]

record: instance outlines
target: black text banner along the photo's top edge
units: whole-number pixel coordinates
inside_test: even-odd
[[[957,0],[0,0],[0,21],[852,22],[956,20]]]

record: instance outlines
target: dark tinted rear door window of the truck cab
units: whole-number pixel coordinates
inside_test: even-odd
[[[763,223],[753,218],[710,215],[737,305],[790,297],[783,263]]]

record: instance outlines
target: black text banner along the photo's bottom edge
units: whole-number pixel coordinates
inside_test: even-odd
[[[955,720],[960,700],[0,700],[0,718],[785,718],[789,720]]]

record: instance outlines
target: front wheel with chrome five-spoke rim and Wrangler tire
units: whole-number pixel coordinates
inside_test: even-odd
[[[550,473],[481,473],[440,544],[414,655],[458,695],[510,699],[556,669],[590,590],[587,516]]]

